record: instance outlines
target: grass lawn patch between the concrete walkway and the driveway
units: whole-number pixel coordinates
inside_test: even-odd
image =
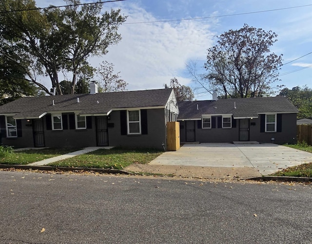
[[[134,163],[147,164],[160,154],[162,154],[162,151],[154,149],[99,149],[49,165],[58,167],[123,169]]]

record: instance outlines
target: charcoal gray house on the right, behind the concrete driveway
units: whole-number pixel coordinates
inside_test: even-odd
[[[178,102],[181,142],[295,143],[298,110],[287,98]]]

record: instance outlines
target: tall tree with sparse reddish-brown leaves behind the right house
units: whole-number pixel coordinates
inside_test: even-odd
[[[271,92],[278,80],[282,56],[270,51],[277,35],[247,24],[239,30],[229,30],[209,48],[199,86],[218,91],[224,98],[263,96]],[[189,67],[188,67],[189,68]]]

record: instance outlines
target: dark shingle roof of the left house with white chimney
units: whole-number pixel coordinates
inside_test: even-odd
[[[81,111],[80,114],[105,114],[114,109],[164,107],[171,92],[172,89],[158,89],[22,97],[0,106],[0,113],[18,113],[17,117],[38,117],[45,112]]]

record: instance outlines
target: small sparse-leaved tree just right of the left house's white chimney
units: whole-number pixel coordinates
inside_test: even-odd
[[[120,78],[120,72],[114,74],[114,64],[103,61],[97,70],[97,74],[99,77],[99,92],[111,93],[126,90],[128,83]]]

